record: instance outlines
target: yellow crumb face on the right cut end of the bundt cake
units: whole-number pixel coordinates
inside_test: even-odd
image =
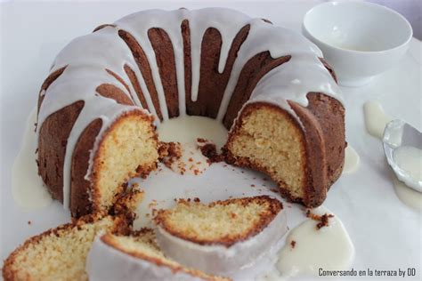
[[[304,197],[306,150],[304,132],[293,117],[265,103],[248,105],[226,145],[228,160],[264,172],[290,198]]]

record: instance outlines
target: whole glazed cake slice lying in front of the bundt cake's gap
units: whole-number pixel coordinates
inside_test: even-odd
[[[166,256],[208,274],[231,275],[270,253],[287,232],[279,200],[245,197],[204,205],[179,200],[154,218]]]

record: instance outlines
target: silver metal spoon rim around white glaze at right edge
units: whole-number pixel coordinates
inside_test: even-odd
[[[410,124],[395,119],[385,126],[383,146],[387,162],[393,168],[397,178],[411,189],[422,192],[422,181],[418,181],[409,172],[403,170],[394,159],[394,150],[402,146],[422,149],[422,133]]]

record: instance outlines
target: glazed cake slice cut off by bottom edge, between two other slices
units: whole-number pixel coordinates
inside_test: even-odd
[[[230,280],[183,267],[160,251],[154,231],[142,229],[130,236],[97,237],[86,261],[95,280]]]

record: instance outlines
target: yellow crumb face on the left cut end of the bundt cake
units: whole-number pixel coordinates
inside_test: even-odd
[[[151,117],[120,117],[101,141],[93,170],[93,197],[98,210],[109,209],[123,192],[123,184],[157,166],[158,142]]]

